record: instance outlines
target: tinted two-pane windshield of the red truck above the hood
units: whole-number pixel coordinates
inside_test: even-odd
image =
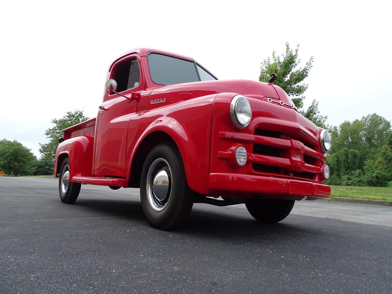
[[[189,60],[150,53],[148,64],[151,80],[158,85],[216,80],[214,76]]]

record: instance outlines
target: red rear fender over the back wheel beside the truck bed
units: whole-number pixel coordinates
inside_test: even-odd
[[[91,176],[93,167],[93,147],[94,137],[79,136],[74,137],[60,143],[56,150],[56,158],[54,160],[54,175],[60,172],[63,156],[69,158],[69,178],[72,182],[74,176]]]

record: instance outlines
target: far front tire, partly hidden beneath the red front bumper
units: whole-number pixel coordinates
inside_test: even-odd
[[[256,220],[264,223],[277,223],[290,214],[294,202],[295,200],[265,199],[261,202],[249,202],[245,205]]]

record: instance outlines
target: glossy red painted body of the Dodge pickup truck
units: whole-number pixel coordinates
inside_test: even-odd
[[[154,136],[164,132],[180,150],[189,186],[201,194],[263,194],[296,200],[330,195],[320,174],[326,160],[319,142],[321,129],[290,107],[292,102],[280,87],[249,80],[156,85],[147,64],[150,51],[157,52],[129,51],[109,67],[107,79],[113,78],[116,66],[124,60],[138,59],[140,84],[121,93],[138,100],[128,102],[105,90],[100,105],[108,110],[99,110],[96,119],[64,130],[55,173],[66,154],[71,181],[127,186],[132,163],[143,154],[138,148],[155,143]],[[237,94],[247,97],[252,107],[252,120],[241,130],[229,114]],[[165,102],[151,104],[151,100]],[[248,153],[242,167],[234,159],[238,146]]]

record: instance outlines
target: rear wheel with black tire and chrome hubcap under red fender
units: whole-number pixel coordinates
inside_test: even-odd
[[[81,183],[69,182],[69,159],[65,158],[60,169],[58,192],[62,203],[73,204],[79,196]]]

